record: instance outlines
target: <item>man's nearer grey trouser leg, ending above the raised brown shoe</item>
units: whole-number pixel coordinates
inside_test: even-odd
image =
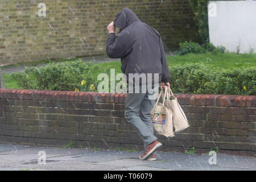
[[[127,122],[135,127],[143,143],[147,146],[157,138],[154,136],[151,129],[148,128],[147,124],[139,117],[139,109],[141,108],[145,96],[146,93],[127,93],[125,118]]]

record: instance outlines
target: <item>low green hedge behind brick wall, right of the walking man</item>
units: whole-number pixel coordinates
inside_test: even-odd
[[[256,95],[256,68],[209,68],[202,63],[170,67],[174,93]]]

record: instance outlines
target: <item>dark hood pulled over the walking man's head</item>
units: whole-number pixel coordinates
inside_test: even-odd
[[[117,13],[114,20],[114,26],[119,27],[121,32],[135,21],[139,21],[138,16],[129,8],[124,8]]]

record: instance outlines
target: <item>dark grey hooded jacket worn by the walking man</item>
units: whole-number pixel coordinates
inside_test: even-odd
[[[158,31],[127,8],[119,11],[114,26],[120,31],[117,36],[108,34],[106,53],[110,58],[121,58],[127,82],[129,73],[159,73],[159,82],[169,82],[170,72]]]

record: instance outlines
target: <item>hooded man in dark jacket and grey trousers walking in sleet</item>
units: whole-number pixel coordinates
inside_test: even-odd
[[[115,27],[120,28],[117,36]],[[143,140],[145,152],[139,158],[156,160],[155,151],[162,143],[154,136],[150,112],[154,107],[155,97],[152,97],[150,86],[157,91],[159,82],[162,82],[161,89],[164,85],[170,86],[170,72],[162,39],[158,31],[141,22],[138,16],[127,8],[118,12],[114,22],[109,24],[108,31],[106,53],[110,58],[121,58],[121,70],[125,73],[127,82],[129,80],[125,118],[135,127]],[[136,73],[137,76],[154,74],[154,77],[146,78],[146,90],[143,87],[143,80],[139,80],[139,84],[134,84],[135,77],[131,77],[131,74]],[[133,84],[132,89],[130,81]],[[134,93],[134,86],[139,86],[139,93]]]

